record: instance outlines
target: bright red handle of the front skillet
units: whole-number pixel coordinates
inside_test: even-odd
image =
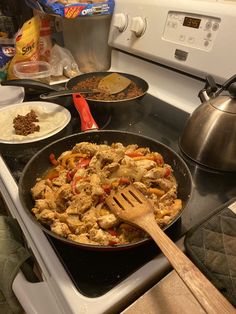
[[[98,129],[98,125],[93,119],[87,101],[80,94],[73,94],[73,101],[81,119],[81,131]]]

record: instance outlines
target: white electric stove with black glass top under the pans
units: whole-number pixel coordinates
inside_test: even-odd
[[[120,108],[91,108],[100,127],[144,134],[181,154],[178,139],[188,115],[200,104],[197,95],[205,76],[211,74],[222,84],[236,72],[235,27],[236,5],[231,1],[116,0],[109,36],[111,70],[143,77],[149,90]],[[73,115],[65,135],[76,132],[79,122]],[[29,219],[18,196],[17,181],[38,149],[14,154],[9,147],[1,148],[1,194],[43,277],[30,283],[19,272],[13,283],[17,298],[26,313],[121,312],[170,271],[169,263],[153,244],[111,255],[71,251],[48,238]],[[185,232],[235,196],[236,180],[235,174],[203,168],[182,157],[191,170],[194,192],[170,236],[184,249]]]

